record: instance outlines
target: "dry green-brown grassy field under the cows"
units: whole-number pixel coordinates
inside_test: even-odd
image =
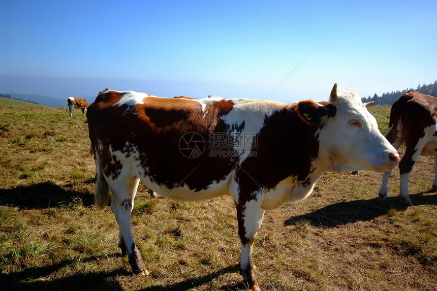
[[[369,110],[385,131],[389,107]],[[114,215],[93,205],[85,121],[0,100],[0,289],[245,290],[232,200],[152,199],[142,184],[133,230],[150,276],[131,273]],[[327,173],[307,200],[267,212],[254,246],[261,288],[436,290],[433,171],[421,156],[413,207],[398,198],[396,168],[388,203],[377,199],[382,174]]]

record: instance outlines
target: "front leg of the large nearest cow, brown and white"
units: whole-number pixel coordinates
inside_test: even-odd
[[[260,290],[254,273],[256,266],[252,260],[252,249],[264,217],[261,202],[259,198],[258,201],[249,200],[237,204],[238,235],[241,242],[240,274],[243,282],[254,291]]]

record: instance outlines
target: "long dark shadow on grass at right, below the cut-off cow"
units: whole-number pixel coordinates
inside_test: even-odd
[[[424,204],[437,205],[437,193],[424,195],[424,193],[433,192],[429,190],[410,195],[410,199],[413,205],[416,206]],[[373,218],[388,214],[391,209],[406,210],[408,207],[399,197],[389,197],[387,202],[380,202],[378,198],[340,202],[330,204],[316,211],[290,217],[284,221],[284,224],[294,225],[299,221],[308,221],[318,228],[333,228],[350,222],[370,221]]]

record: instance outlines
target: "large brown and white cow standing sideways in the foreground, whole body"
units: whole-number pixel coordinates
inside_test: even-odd
[[[96,160],[95,202],[103,208],[111,199],[119,247],[134,273],[147,274],[132,235],[131,213],[142,180],[177,201],[231,196],[240,274],[259,290],[252,245],[264,211],[305,199],[327,171],[383,172],[399,161],[357,94],[337,91],[335,84],[330,102],[100,92],[87,112]]]

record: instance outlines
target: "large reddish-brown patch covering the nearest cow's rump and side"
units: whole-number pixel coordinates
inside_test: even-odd
[[[107,177],[117,178],[120,167],[131,164],[154,184],[200,190],[231,172],[236,158],[205,152],[211,135],[229,131],[222,117],[232,110],[231,101],[202,108],[196,100],[127,94],[101,92],[87,111],[90,139]]]

